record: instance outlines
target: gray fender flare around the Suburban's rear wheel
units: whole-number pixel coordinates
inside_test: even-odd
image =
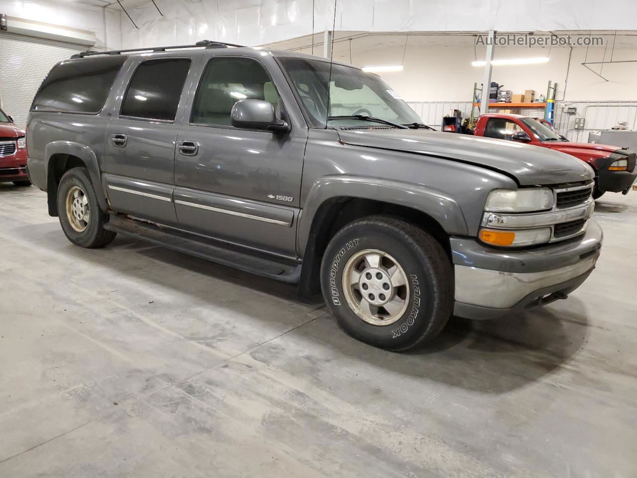
[[[53,141],[45,148],[45,178],[47,181],[48,214],[57,216],[57,189],[62,175],[78,166],[89,170],[97,202],[101,210],[108,210],[106,196],[101,188],[99,164],[95,152],[80,143],[73,141]]]

